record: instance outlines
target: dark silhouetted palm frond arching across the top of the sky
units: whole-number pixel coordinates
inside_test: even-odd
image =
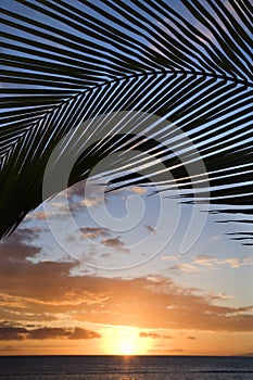
[[[206,199],[203,181],[200,201],[217,204],[214,213],[226,204],[226,213],[240,214],[231,221],[251,223],[241,216],[253,205],[250,1],[10,0],[1,3],[1,237],[42,202],[45,168],[59,141],[84,121],[118,111],[176,124],[208,174],[211,193]],[[124,123],[107,139],[96,130],[98,143],[77,160],[68,186],[104,155],[138,147],[164,160],[181,189],[191,188],[197,179],[184,168],[191,147],[177,141],[179,163],[155,145],[157,132],[164,143],[172,139],[169,126],[147,141]],[[155,166],[150,172],[155,180]],[[137,182],[146,178],[123,173],[112,185]],[[191,193],[185,201],[194,202]],[[235,238],[250,244],[252,233]]]

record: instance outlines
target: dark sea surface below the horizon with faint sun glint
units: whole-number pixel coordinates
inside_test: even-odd
[[[252,380],[251,357],[1,356],[0,380]]]

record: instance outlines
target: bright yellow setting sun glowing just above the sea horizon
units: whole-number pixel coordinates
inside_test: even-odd
[[[103,332],[104,352],[107,355],[134,356],[147,354],[147,340],[140,331],[131,327],[110,327]]]

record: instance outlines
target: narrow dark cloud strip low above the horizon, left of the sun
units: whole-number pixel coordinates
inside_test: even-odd
[[[80,327],[66,329],[62,327],[40,327],[37,329],[27,329],[26,327],[1,326],[1,341],[21,341],[21,340],[48,340],[48,339],[97,339],[101,334],[97,331],[86,330]]]

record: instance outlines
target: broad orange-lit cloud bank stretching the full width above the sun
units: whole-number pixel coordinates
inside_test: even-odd
[[[253,330],[250,306],[216,305],[219,301],[217,295],[200,294],[200,290],[182,287],[166,277],[149,275],[124,279],[90,274],[83,276],[73,271],[76,268],[74,262],[27,261],[27,256],[40,252],[40,248],[23,241],[33,236],[36,232],[23,230],[0,244],[2,318],[23,324],[29,320],[34,325],[41,322],[43,317],[45,322],[54,318],[54,325],[59,320],[61,326],[71,316],[73,321],[141,329]],[[118,241],[116,244],[111,241],[111,244],[118,246]],[[4,330],[2,334],[9,333],[10,337],[13,333],[22,339],[27,334],[24,328],[30,331],[24,326],[4,326],[10,327],[17,330]],[[47,331],[43,331],[45,335]],[[56,331],[49,330],[48,333],[56,334]],[[33,334],[39,334],[39,331]],[[71,339],[72,334],[67,332],[66,335]]]

